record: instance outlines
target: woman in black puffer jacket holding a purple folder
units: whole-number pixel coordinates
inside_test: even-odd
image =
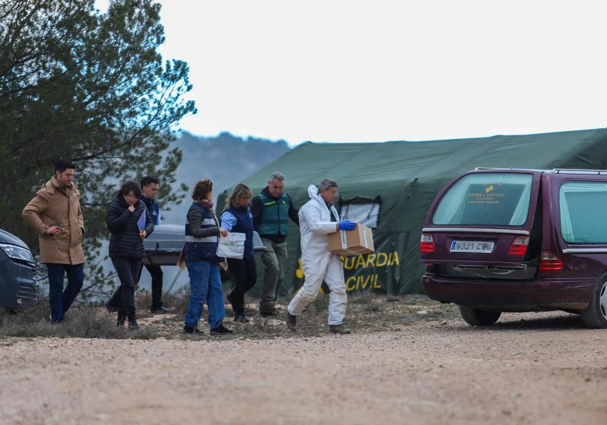
[[[137,329],[135,319],[135,282],[143,259],[143,239],[154,231],[154,223],[139,199],[139,183],[129,180],[107,208],[110,237],[109,256],[120,279],[122,296],[118,304],[118,326],[129,319],[129,329]]]

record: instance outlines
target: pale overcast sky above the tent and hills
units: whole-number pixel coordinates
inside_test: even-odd
[[[294,146],[607,126],[604,1],[159,2],[195,135]]]

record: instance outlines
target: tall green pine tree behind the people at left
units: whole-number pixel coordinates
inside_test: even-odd
[[[156,175],[164,209],[187,190],[171,190],[181,161],[171,142],[181,118],[196,110],[184,98],[192,89],[188,64],[163,61],[157,51],[159,13],[152,0],[114,0],[103,14],[93,0],[0,2],[0,223],[36,251],[22,208],[57,158],[72,160],[89,296],[108,282],[98,259],[117,185]]]

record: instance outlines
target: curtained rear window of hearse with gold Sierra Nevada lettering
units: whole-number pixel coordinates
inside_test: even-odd
[[[444,194],[435,225],[522,226],[531,201],[532,174],[478,173],[460,178]]]

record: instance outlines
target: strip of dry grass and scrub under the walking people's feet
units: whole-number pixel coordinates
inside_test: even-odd
[[[109,314],[103,307],[72,307],[66,314],[63,324],[49,322],[47,300],[39,305],[27,307],[17,314],[0,312],[0,336],[4,337],[48,337],[60,338],[112,338],[112,339],[268,339],[291,336],[316,337],[328,333],[329,296],[319,294],[316,300],[297,318],[298,332],[293,333],[285,326],[285,308],[290,298],[277,301],[277,316],[262,318],[257,310],[257,299],[247,299],[245,314],[251,319],[248,324],[232,321],[234,313],[226,305],[224,324],[234,329],[234,335],[211,336],[208,333],[206,308],[198,327],[205,331],[202,335],[184,335],[183,315],[188,308],[189,290],[184,288],[175,294],[163,296],[168,314],[150,313],[151,298],[149,292],[137,294],[137,321],[140,330],[128,331],[126,327],[116,326],[116,313]],[[385,296],[369,291],[350,294],[345,324],[355,333],[380,331],[398,331],[415,322],[443,321],[459,319],[459,310],[455,305],[440,304],[431,301],[425,295]],[[0,344],[8,340],[0,339]]]

